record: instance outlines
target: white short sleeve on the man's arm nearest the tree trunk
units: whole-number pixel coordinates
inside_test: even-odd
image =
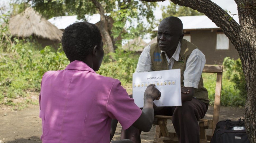
[[[205,55],[198,49],[190,54],[184,71],[184,86],[197,88],[205,65]]]

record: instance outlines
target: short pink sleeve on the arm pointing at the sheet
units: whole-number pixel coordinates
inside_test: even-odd
[[[128,129],[140,117],[142,110],[130,98],[119,80],[115,80],[106,105],[108,116],[117,119],[123,129]]]

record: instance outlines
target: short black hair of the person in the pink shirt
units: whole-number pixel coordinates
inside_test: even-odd
[[[101,33],[95,24],[78,22],[65,28],[62,47],[70,62],[82,61],[95,45],[100,46],[101,41]]]

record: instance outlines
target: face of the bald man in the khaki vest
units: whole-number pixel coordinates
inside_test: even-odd
[[[182,40],[183,34],[179,26],[174,23],[163,20],[157,31],[157,43],[162,51],[175,51],[179,41]]]

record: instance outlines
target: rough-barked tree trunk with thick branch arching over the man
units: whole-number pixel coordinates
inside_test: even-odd
[[[142,0],[147,2],[165,0]],[[171,0],[180,6],[204,13],[229,38],[239,53],[246,80],[247,99],[244,109],[246,133],[256,143],[256,0],[235,0],[239,24],[210,0]]]

